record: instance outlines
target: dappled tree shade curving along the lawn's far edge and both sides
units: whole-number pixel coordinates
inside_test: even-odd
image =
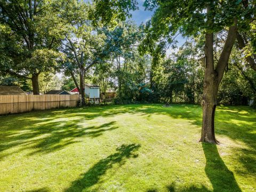
[[[3,116],[0,117],[2,122],[0,124],[0,159],[15,153],[14,150],[13,152],[7,149],[16,146],[20,146],[19,151],[28,148],[35,149],[32,155],[62,149],[79,142],[77,139],[79,137],[99,137],[104,132],[115,130],[118,127],[114,126],[114,122],[87,127],[81,125],[81,122],[126,113],[145,116],[145,118],[152,118],[150,116],[153,114],[166,115],[175,119],[186,119],[193,125],[201,126],[202,124],[202,109],[197,105],[172,105],[170,108],[164,108],[162,105],[87,107]],[[243,149],[234,147],[234,151],[243,154],[242,157],[236,158],[250,173],[256,170],[255,114],[255,110],[249,107],[218,107],[216,118],[217,134],[226,135],[234,141],[242,141],[248,146]],[[238,123],[232,123],[232,121],[238,121]],[[196,131],[199,133],[200,130]],[[2,153],[3,151],[6,153]]]

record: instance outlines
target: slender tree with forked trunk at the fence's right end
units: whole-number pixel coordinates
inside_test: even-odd
[[[104,35],[91,25],[88,18],[90,4],[71,2],[63,6],[61,17],[67,25],[67,34],[63,39],[63,53],[66,54],[66,70],[82,95],[82,105],[85,104],[85,73],[103,57],[107,57]],[[79,74],[79,86],[75,75]]]

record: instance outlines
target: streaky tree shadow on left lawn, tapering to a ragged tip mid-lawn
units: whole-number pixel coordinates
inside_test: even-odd
[[[81,119],[70,119],[69,121],[45,122],[40,118],[34,122],[20,122],[21,125],[13,125],[6,132],[0,134],[0,153],[5,150],[19,146],[18,151],[33,149],[36,153],[52,153],[55,150],[62,149],[70,144],[79,142],[77,139],[81,137],[99,137],[106,131],[117,129],[115,121],[101,124],[99,126],[83,126]],[[42,124],[43,123],[43,124]],[[0,160],[15,153],[0,154]]]

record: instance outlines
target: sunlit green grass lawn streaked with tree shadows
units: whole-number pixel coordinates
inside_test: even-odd
[[[2,116],[0,191],[256,191],[256,111],[218,107],[218,146],[201,122],[196,105]]]

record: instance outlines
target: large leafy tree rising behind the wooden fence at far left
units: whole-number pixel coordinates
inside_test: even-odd
[[[0,71],[30,79],[39,94],[38,76],[58,69],[63,27],[55,1],[0,1]]]

